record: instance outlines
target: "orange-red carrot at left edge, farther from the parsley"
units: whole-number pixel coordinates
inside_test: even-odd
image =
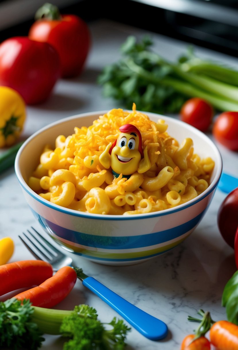
[[[22,260],[0,266],[0,295],[39,285],[53,274],[52,266],[42,260]]]

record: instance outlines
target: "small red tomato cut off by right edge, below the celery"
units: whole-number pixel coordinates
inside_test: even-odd
[[[215,139],[223,146],[238,151],[238,112],[223,112],[213,126]]]

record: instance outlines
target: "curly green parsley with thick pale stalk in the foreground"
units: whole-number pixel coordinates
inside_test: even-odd
[[[84,304],[68,311],[33,307],[29,299],[0,302],[1,349],[37,350],[46,333],[66,337],[64,350],[122,350],[128,331],[115,317],[110,323],[102,323],[97,311]]]

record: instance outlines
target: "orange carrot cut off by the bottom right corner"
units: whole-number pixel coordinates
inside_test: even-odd
[[[238,350],[238,326],[229,321],[217,321],[211,326],[210,340],[219,350]]]

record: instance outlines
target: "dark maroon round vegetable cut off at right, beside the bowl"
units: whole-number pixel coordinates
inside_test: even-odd
[[[238,226],[238,187],[231,191],[222,202],[218,210],[217,223],[226,243],[234,248]]]

